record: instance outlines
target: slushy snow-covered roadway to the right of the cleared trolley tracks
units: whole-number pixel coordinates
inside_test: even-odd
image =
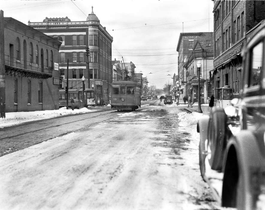
[[[1,209],[221,209],[185,107],[150,100],[0,157]]]

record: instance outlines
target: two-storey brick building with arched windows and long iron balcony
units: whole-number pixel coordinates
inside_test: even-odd
[[[61,42],[4,17],[5,112],[59,109]]]

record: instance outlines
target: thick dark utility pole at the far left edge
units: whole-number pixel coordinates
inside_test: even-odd
[[[0,117],[5,118],[4,11],[0,10]]]

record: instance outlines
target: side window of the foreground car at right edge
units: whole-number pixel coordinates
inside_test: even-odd
[[[251,52],[251,68],[249,72],[249,87],[259,85],[261,80],[263,57],[263,42],[253,47]]]

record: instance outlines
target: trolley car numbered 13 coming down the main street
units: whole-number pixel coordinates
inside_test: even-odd
[[[112,82],[111,108],[116,110],[136,110],[141,107],[141,86],[132,81]]]

